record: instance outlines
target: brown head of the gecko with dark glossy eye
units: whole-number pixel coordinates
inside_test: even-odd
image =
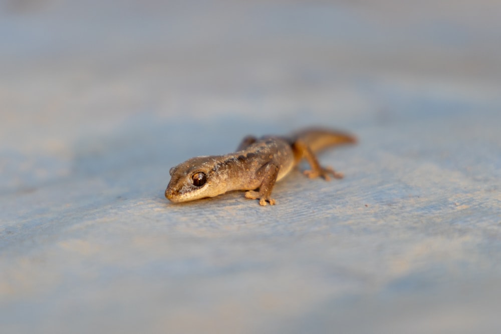
[[[224,193],[219,182],[217,156],[195,157],[172,167],[165,197],[172,202],[187,202]]]

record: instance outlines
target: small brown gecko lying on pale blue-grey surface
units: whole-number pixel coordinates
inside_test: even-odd
[[[246,198],[259,199],[261,205],[267,202],[274,205],[271,194],[275,182],[303,158],[311,166],[311,170],[304,171],[308,177],[327,181],[329,175],[342,178],[342,173],[322,167],[315,154],[327,147],[356,141],[354,136],[326,129],[307,129],[290,137],[247,136],[235,153],[195,157],[171,168],[165,197],[172,202],[187,202],[231,190],[247,190]]]

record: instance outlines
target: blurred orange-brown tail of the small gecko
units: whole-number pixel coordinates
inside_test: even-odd
[[[354,144],[357,138],[346,132],[340,132],[322,128],[310,128],[293,135],[294,140],[301,140],[313,152],[322,151],[331,146]]]

